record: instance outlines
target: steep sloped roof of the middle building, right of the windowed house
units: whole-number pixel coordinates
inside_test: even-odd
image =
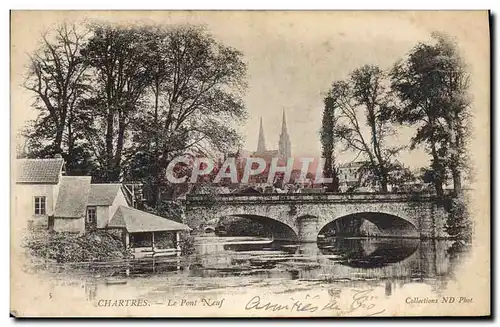
[[[90,176],[63,176],[57,196],[55,217],[80,218],[85,216],[90,191]]]

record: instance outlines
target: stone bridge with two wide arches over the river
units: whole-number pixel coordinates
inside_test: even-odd
[[[316,242],[327,225],[353,218],[370,221],[387,237],[447,236],[447,213],[432,194],[221,194],[186,199],[186,222],[195,230],[227,216],[259,221],[275,239],[299,242]]]

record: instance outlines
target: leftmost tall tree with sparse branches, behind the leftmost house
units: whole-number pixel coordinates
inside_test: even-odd
[[[24,87],[35,95],[33,107],[37,119],[26,131],[30,155],[35,157],[63,154],[71,173],[83,151],[77,141],[79,106],[88,92],[88,65],[81,56],[88,30],[61,24],[54,33],[45,34],[42,44],[30,56]]]

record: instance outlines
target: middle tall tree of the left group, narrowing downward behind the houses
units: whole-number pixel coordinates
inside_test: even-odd
[[[97,149],[101,179],[118,181],[131,118],[151,84],[148,54],[139,28],[93,24],[92,30],[82,51],[96,76],[95,92],[87,106],[94,108],[97,120],[88,137]]]

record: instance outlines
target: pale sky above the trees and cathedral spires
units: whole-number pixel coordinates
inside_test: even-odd
[[[214,37],[240,50],[248,65],[244,102],[248,119],[238,129],[244,149],[255,151],[259,120],[263,119],[268,149],[277,149],[282,111],[286,111],[292,154],[318,157],[323,97],[334,80],[345,79],[362,65],[389,69],[432,31],[456,37],[466,62],[471,63],[473,93],[482,98],[475,75],[481,76],[487,38],[478,38],[484,12],[18,12],[12,15],[13,129],[30,111],[30,95],[20,87],[27,53],[44,30],[66,20],[101,19],[120,23],[191,23],[205,25]],[[486,36],[487,37],[487,36]],[[476,90],[477,89],[477,90]],[[479,91],[478,91],[479,90]],[[484,92],[483,92],[484,93]],[[413,128],[403,128],[393,144],[407,144]],[[353,153],[339,151],[340,162]],[[399,160],[417,168],[428,163],[423,149],[401,153]]]

